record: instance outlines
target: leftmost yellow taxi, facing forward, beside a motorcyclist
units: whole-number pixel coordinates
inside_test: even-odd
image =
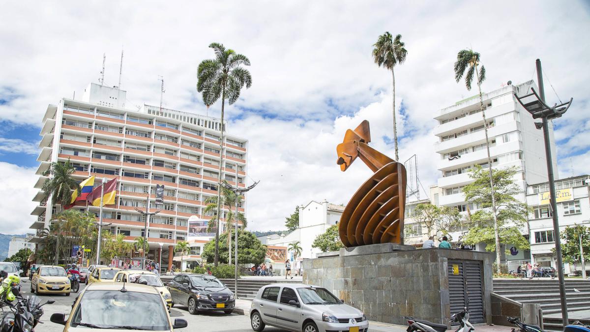
[[[70,296],[70,278],[61,266],[39,266],[31,278],[31,293]]]

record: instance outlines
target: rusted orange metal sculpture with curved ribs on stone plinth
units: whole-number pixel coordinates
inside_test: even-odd
[[[346,171],[358,157],[373,174],[350,198],[340,217],[340,240],[346,247],[399,243],[404,229],[406,171],[403,164],[369,147],[369,122],[348,129],[338,144],[337,164]]]

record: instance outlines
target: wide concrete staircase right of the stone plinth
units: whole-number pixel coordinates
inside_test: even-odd
[[[587,311],[590,318],[590,281],[566,279],[565,288],[568,313],[582,314]],[[559,284],[556,279],[494,279],[494,293],[520,303],[539,303],[543,310],[545,330],[562,330]]]

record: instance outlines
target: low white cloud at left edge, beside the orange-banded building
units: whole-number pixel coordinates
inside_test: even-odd
[[[35,221],[31,211],[32,198],[38,189],[33,188],[37,176],[34,168],[0,162],[0,233],[24,234]]]

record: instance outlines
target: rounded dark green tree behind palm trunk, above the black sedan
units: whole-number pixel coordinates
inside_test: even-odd
[[[219,236],[219,262],[227,263],[226,258],[229,252],[227,246],[228,233],[224,233]],[[230,242],[232,245],[233,239]],[[201,255],[207,261],[211,261],[215,258],[215,240],[209,241],[203,248]],[[253,233],[247,230],[238,229],[238,264],[254,264],[260,265],[266,258],[266,246],[258,240]]]

